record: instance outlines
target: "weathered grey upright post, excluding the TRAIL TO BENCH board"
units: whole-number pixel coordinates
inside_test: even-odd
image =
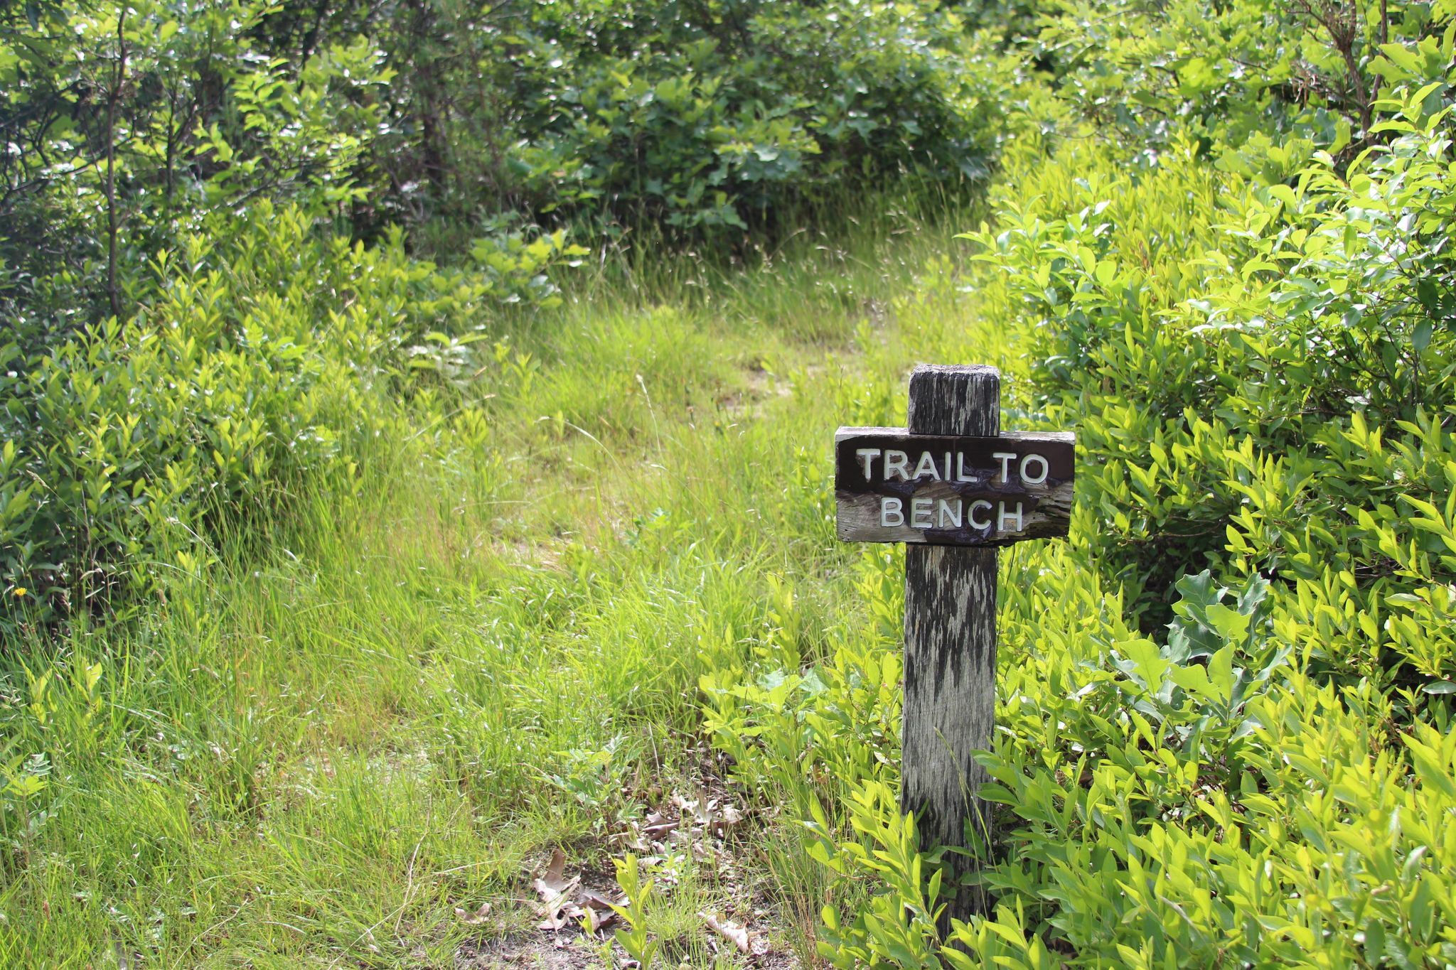
[[[910,377],[913,435],[1000,433],[1000,371],[917,366]],[[964,846],[970,820],[990,835],[989,806],[974,793],[986,779],[971,758],[989,747],[996,714],[996,550],[906,547],[906,700],[900,807],[914,811],[923,843]],[[948,854],[946,884],[970,868]],[[942,923],[984,912],[962,890]]]

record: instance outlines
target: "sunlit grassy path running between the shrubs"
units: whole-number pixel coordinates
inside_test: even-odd
[[[702,779],[700,673],[868,622],[828,442],[895,420],[968,329],[971,214],[935,209],[866,205],[748,268],[607,254],[498,321],[504,390],[469,422],[379,441],[124,628],[12,644],[6,756],[45,787],[13,800],[0,964],[451,967],[531,931],[555,846],[610,873]],[[683,861],[665,955],[731,963],[696,912],[750,899],[808,953],[792,833],[729,845],[734,878]]]

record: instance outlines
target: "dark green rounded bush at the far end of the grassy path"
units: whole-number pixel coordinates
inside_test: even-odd
[[[402,38],[416,70],[425,57],[434,67],[392,87],[428,176],[396,207],[469,217],[504,202],[724,244],[722,230],[772,228],[830,186],[910,170],[980,177],[999,138],[997,92],[967,58],[960,17],[936,4],[651,0],[435,16],[428,39]]]

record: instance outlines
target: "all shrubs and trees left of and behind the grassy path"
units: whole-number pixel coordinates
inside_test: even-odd
[[[935,7],[0,17],[0,577],[32,618],[109,602],[122,574],[144,589],[204,505],[218,522],[347,465],[361,390],[400,391],[377,377],[425,365],[425,333],[440,349],[489,307],[550,304],[585,252],[568,227],[732,252],[853,185],[978,177],[1000,137]]]

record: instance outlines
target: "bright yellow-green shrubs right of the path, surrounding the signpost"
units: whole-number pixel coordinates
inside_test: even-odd
[[[1003,556],[992,912],[936,929],[894,692],[882,739],[834,720],[897,631],[703,684],[837,880],[826,958],[1456,963],[1453,13],[1066,4],[1025,42],[1056,99],[971,234],[981,323],[920,349],[1009,345],[1008,410],[1079,432],[1069,544]]]

